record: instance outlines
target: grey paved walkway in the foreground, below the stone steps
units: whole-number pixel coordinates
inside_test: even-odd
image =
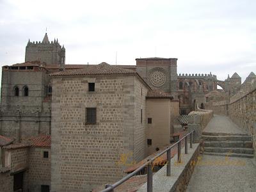
[[[200,157],[186,191],[256,191],[255,159],[228,157],[227,161],[227,157],[221,156]]]

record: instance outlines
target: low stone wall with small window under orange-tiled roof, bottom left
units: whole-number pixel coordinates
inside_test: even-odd
[[[48,158],[44,158],[44,151],[48,152]],[[51,185],[51,148],[30,148],[29,191],[40,191],[41,185]]]

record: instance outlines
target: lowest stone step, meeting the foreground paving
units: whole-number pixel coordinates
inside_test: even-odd
[[[253,148],[218,148],[218,147],[205,147],[205,152],[213,153],[235,153],[235,154],[253,154]]]

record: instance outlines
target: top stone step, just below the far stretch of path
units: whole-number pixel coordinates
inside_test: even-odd
[[[205,136],[205,141],[252,141],[252,136]]]

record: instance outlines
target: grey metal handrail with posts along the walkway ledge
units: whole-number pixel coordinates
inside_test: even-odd
[[[177,141],[176,143],[174,143],[173,145],[171,145],[170,147],[166,148],[165,150],[163,150],[162,152],[160,152],[159,154],[157,154],[155,157],[152,157],[151,159],[148,159],[148,161],[144,164],[142,164],[139,168],[137,168],[134,172],[129,173],[127,176],[125,176],[123,179],[118,180],[118,182],[115,182],[115,184],[107,184],[105,186],[105,189],[103,189],[100,192],[113,192],[114,189],[118,186],[120,186],[120,184],[124,183],[125,181],[127,181],[128,179],[130,179],[131,177],[133,177],[134,175],[136,175],[136,173],[140,172],[141,170],[143,170],[146,166],[147,166],[147,192],[152,192],[152,178],[153,178],[153,174],[152,174],[152,163],[154,162],[154,160],[157,157],[162,156],[164,153],[167,152],[167,166],[166,166],[166,175],[170,176],[171,175],[171,150],[173,147],[175,147],[175,145],[178,145],[178,162],[180,163],[180,150],[181,150],[181,141],[185,140],[185,154],[188,154],[188,136],[189,136],[189,141],[190,141],[190,148],[192,148],[192,143],[194,143],[194,137],[195,137],[195,130],[189,132],[188,134],[186,134],[183,138],[181,138],[179,141]]]

